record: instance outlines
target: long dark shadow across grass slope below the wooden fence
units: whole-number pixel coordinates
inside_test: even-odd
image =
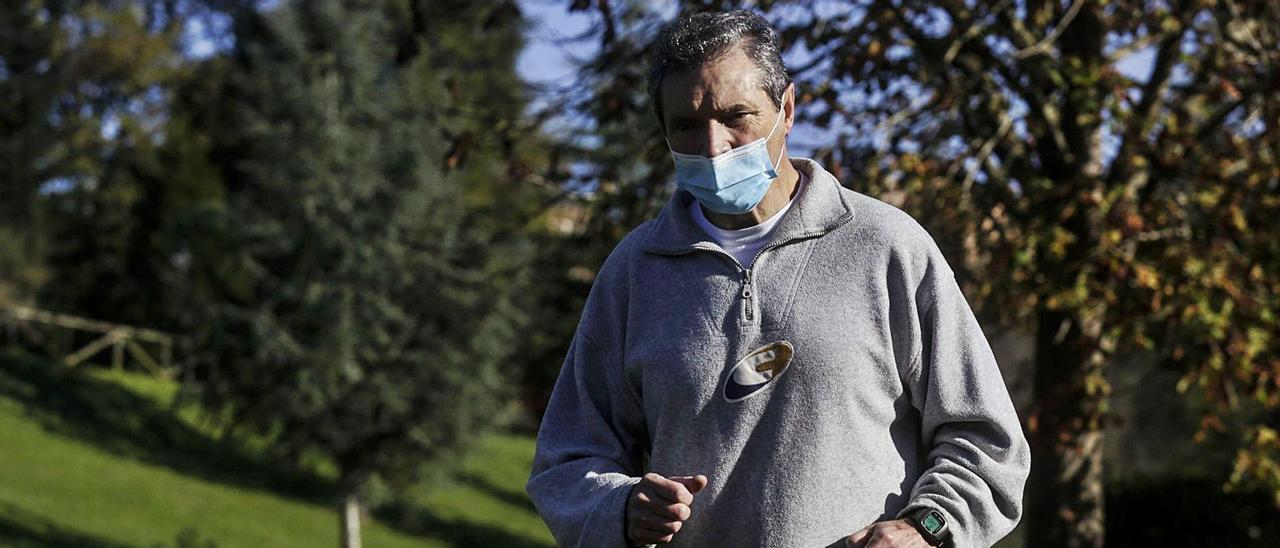
[[[328,480],[250,455],[234,442],[191,428],[168,407],[127,388],[41,357],[0,352],[0,396],[23,405],[46,430],[115,455],[209,481],[325,504],[333,498]]]

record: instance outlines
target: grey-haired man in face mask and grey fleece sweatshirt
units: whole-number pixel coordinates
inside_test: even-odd
[[[649,92],[677,192],[602,266],[543,420],[527,490],[557,542],[1007,534],[1030,457],[991,350],[914,220],[786,156],[773,28],[673,22]]]

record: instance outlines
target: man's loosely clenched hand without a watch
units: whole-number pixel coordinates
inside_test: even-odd
[[[694,494],[707,487],[707,476],[663,478],[649,472],[627,497],[627,542],[667,544],[692,513]]]

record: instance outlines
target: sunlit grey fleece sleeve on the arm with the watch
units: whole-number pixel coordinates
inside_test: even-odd
[[[1030,448],[987,338],[934,254],[915,291],[913,406],[925,470],[906,508],[947,520],[955,547],[989,547],[1018,525]]]

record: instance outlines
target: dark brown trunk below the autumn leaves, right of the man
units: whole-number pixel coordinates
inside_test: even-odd
[[[1036,408],[1028,420],[1029,547],[1103,544],[1102,419],[1110,392],[1101,328],[1042,311],[1036,333]]]

